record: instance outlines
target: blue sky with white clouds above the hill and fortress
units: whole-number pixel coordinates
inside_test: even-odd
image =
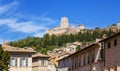
[[[42,37],[46,28],[69,24],[107,27],[120,21],[120,0],[0,0],[0,43]]]

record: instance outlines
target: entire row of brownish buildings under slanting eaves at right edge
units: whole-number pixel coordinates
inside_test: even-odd
[[[120,32],[59,60],[59,71],[120,71]]]

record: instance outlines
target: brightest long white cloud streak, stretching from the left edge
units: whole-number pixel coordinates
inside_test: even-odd
[[[35,33],[40,30],[45,30],[47,27],[42,25],[34,25],[35,22],[17,22],[17,19],[0,19],[0,25],[7,25],[12,31],[23,33]]]

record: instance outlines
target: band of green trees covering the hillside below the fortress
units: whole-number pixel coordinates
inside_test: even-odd
[[[70,35],[59,35],[59,36],[49,36],[48,34],[44,35],[44,37],[27,37],[25,39],[20,39],[14,42],[10,42],[10,45],[16,47],[32,47],[38,52],[45,53],[48,50],[53,50],[54,48],[58,48],[64,46],[66,43],[79,41],[83,44],[89,44],[94,42],[96,38],[103,38],[103,35],[107,37],[111,36],[115,32],[112,30],[105,31],[100,30],[97,27],[95,30],[83,30],[78,34],[70,34]]]

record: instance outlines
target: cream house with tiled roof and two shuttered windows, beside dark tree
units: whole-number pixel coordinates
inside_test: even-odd
[[[32,48],[18,48],[2,44],[4,51],[10,55],[9,71],[32,71],[32,54],[35,51]]]

